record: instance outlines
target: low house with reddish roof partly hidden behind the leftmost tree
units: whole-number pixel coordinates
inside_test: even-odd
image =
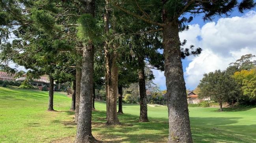
[[[24,80],[26,80],[27,75],[23,74],[20,78],[17,78],[16,81],[21,81],[23,82]],[[33,81],[29,81],[29,83],[35,87],[38,87],[40,90],[46,86],[47,88],[50,85],[50,81],[48,78],[48,75],[43,75],[40,76],[39,79],[33,79]]]

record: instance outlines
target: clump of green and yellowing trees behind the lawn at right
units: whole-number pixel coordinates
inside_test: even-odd
[[[256,61],[255,55],[246,54],[224,70],[204,74],[198,85],[199,98],[210,97],[230,105],[256,105]]]

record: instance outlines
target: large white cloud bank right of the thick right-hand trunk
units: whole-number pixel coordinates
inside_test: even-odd
[[[195,88],[204,73],[224,70],[228,64],[234,62],[244,54],[256,54],[256,12],[250,11],[242,17],[220,18],[216,23],[206,23],[201,29],[198,25],[190,25],[200,33],[186,35],[194,39],[202,39],[194,44],[203,49],[199,56],[191,56],[184,76],[186,86]],[[194,30],[193,30],[194,31]],[[185,31],[187,32],[187,31]],[[182,34],[180,37],[183,38]],[[189,40],[188,40],[189,42]]]

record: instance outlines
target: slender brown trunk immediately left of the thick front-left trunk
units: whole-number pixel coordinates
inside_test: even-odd
[[[82,78],[82,71],[81,65],[78,64],[76,68],[76,113],[75,113],[75,122],[78,122],[78,114],[79,114],[79,102],[80,102],[80,92],[81,92],[81,78]]]

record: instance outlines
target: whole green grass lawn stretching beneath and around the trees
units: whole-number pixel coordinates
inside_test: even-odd
[[[0,143],[71,142],[76,134],[71,99],[54,92],[47,112],[48,92],[0,87]],[[139,123],[139,106],[124,105],[122,125],[105,125],[105,104],[95,103],[93,135],[111,143],[162,143],[168,138],[167,107],[149,107],[151,122]],[[189,108],[194,143],[255,143],[256,108]]]

